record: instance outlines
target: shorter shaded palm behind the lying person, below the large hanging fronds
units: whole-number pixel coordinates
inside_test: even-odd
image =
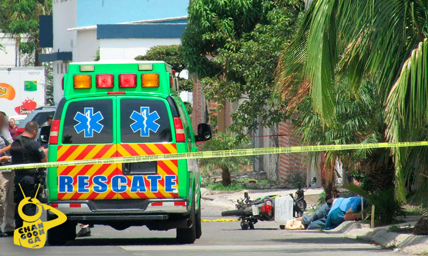
[[[365,80],[358,89],[358,98],[347,80],[335,87],[335,116],[330,126],[323,127],[319,114],[312,111],[312,99],[305,98],[298,106],[294,120],[297,133],[305,145],[335,145],[385,142],[386,125],[382,102],[375,81]],[[319,152],[309,152],[308,161],[317,159]],[[388,148],[327,151],[326,194],[332,197],[335,163],[339,159],[347,174],[363,184],[367,191],[393,187],[394,166]]]

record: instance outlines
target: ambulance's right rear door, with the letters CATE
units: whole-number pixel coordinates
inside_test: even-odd
[[[168,102],[159,97],[117,97],[117,155],[177,153]],[[178,197],[178,161],[118,164],[118,199]]]

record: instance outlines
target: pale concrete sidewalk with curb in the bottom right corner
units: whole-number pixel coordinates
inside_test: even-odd
[[[396,224],[400,227],[414,226],[421,216],[408,216],[405,223]],[[390,225],[392,226],[392,225]],[[370,228],[369,224],[345,221],[334,230],[325,231],[330,234],[344,235],[347,238],[362,239],[370,243],[393,248],[408,254],[420,255],[428,253],[428,236],[400,234],[389,231],[390,226]]]

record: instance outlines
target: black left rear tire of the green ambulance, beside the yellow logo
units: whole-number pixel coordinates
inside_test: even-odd
[[[48,213],[46,215],[48,221],[56,218],[56,216],[51,216]],[[47,236],[49,245],[64,245],[67,240],[76,238],[76,223],[65,221],[61,225],[49,229]]]

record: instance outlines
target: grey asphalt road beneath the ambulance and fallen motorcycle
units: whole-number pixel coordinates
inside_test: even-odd
[[[203,219],[220,218],[223,209],[202,202]],[[116,231],[95,226],[92,236],[64,246],[28,249],[0,238],[0,255],[401,255],[380,246],[319,231],[284,231],[275,222],[256,223],[255,230],[241,230],[239,222],[203,222],[203,235],[191,245],[179,245],[175,230],[149,231],[133,227]]]

